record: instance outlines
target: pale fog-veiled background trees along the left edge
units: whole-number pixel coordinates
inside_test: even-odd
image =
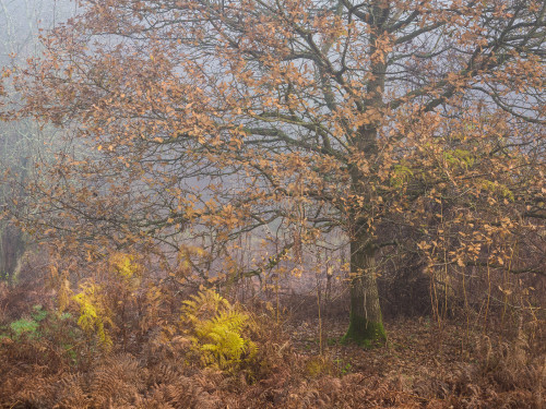
[[[22,266],[28,249],[28,236],[10,217],[2,218],[7,207],[24,209],[24,188],[33,177],[34,161],[45,160],[43,145],[51,143],[51,128],[40,128],[31,118],[9,121],[5,115],[19,96],[10,74],[15,67],[40,52],[39,29],[50,28],[56,17],[67,16],[67,0],[0,0],[0,277],[12,278]],[[12,118],[13,119],[13,118]]]

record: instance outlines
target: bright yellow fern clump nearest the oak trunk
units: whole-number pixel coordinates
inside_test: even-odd
[[[204,365],[229,370],[256,354],[256,345],[242,337],[248,315],[213,290],[185,301],[181,321]]]

